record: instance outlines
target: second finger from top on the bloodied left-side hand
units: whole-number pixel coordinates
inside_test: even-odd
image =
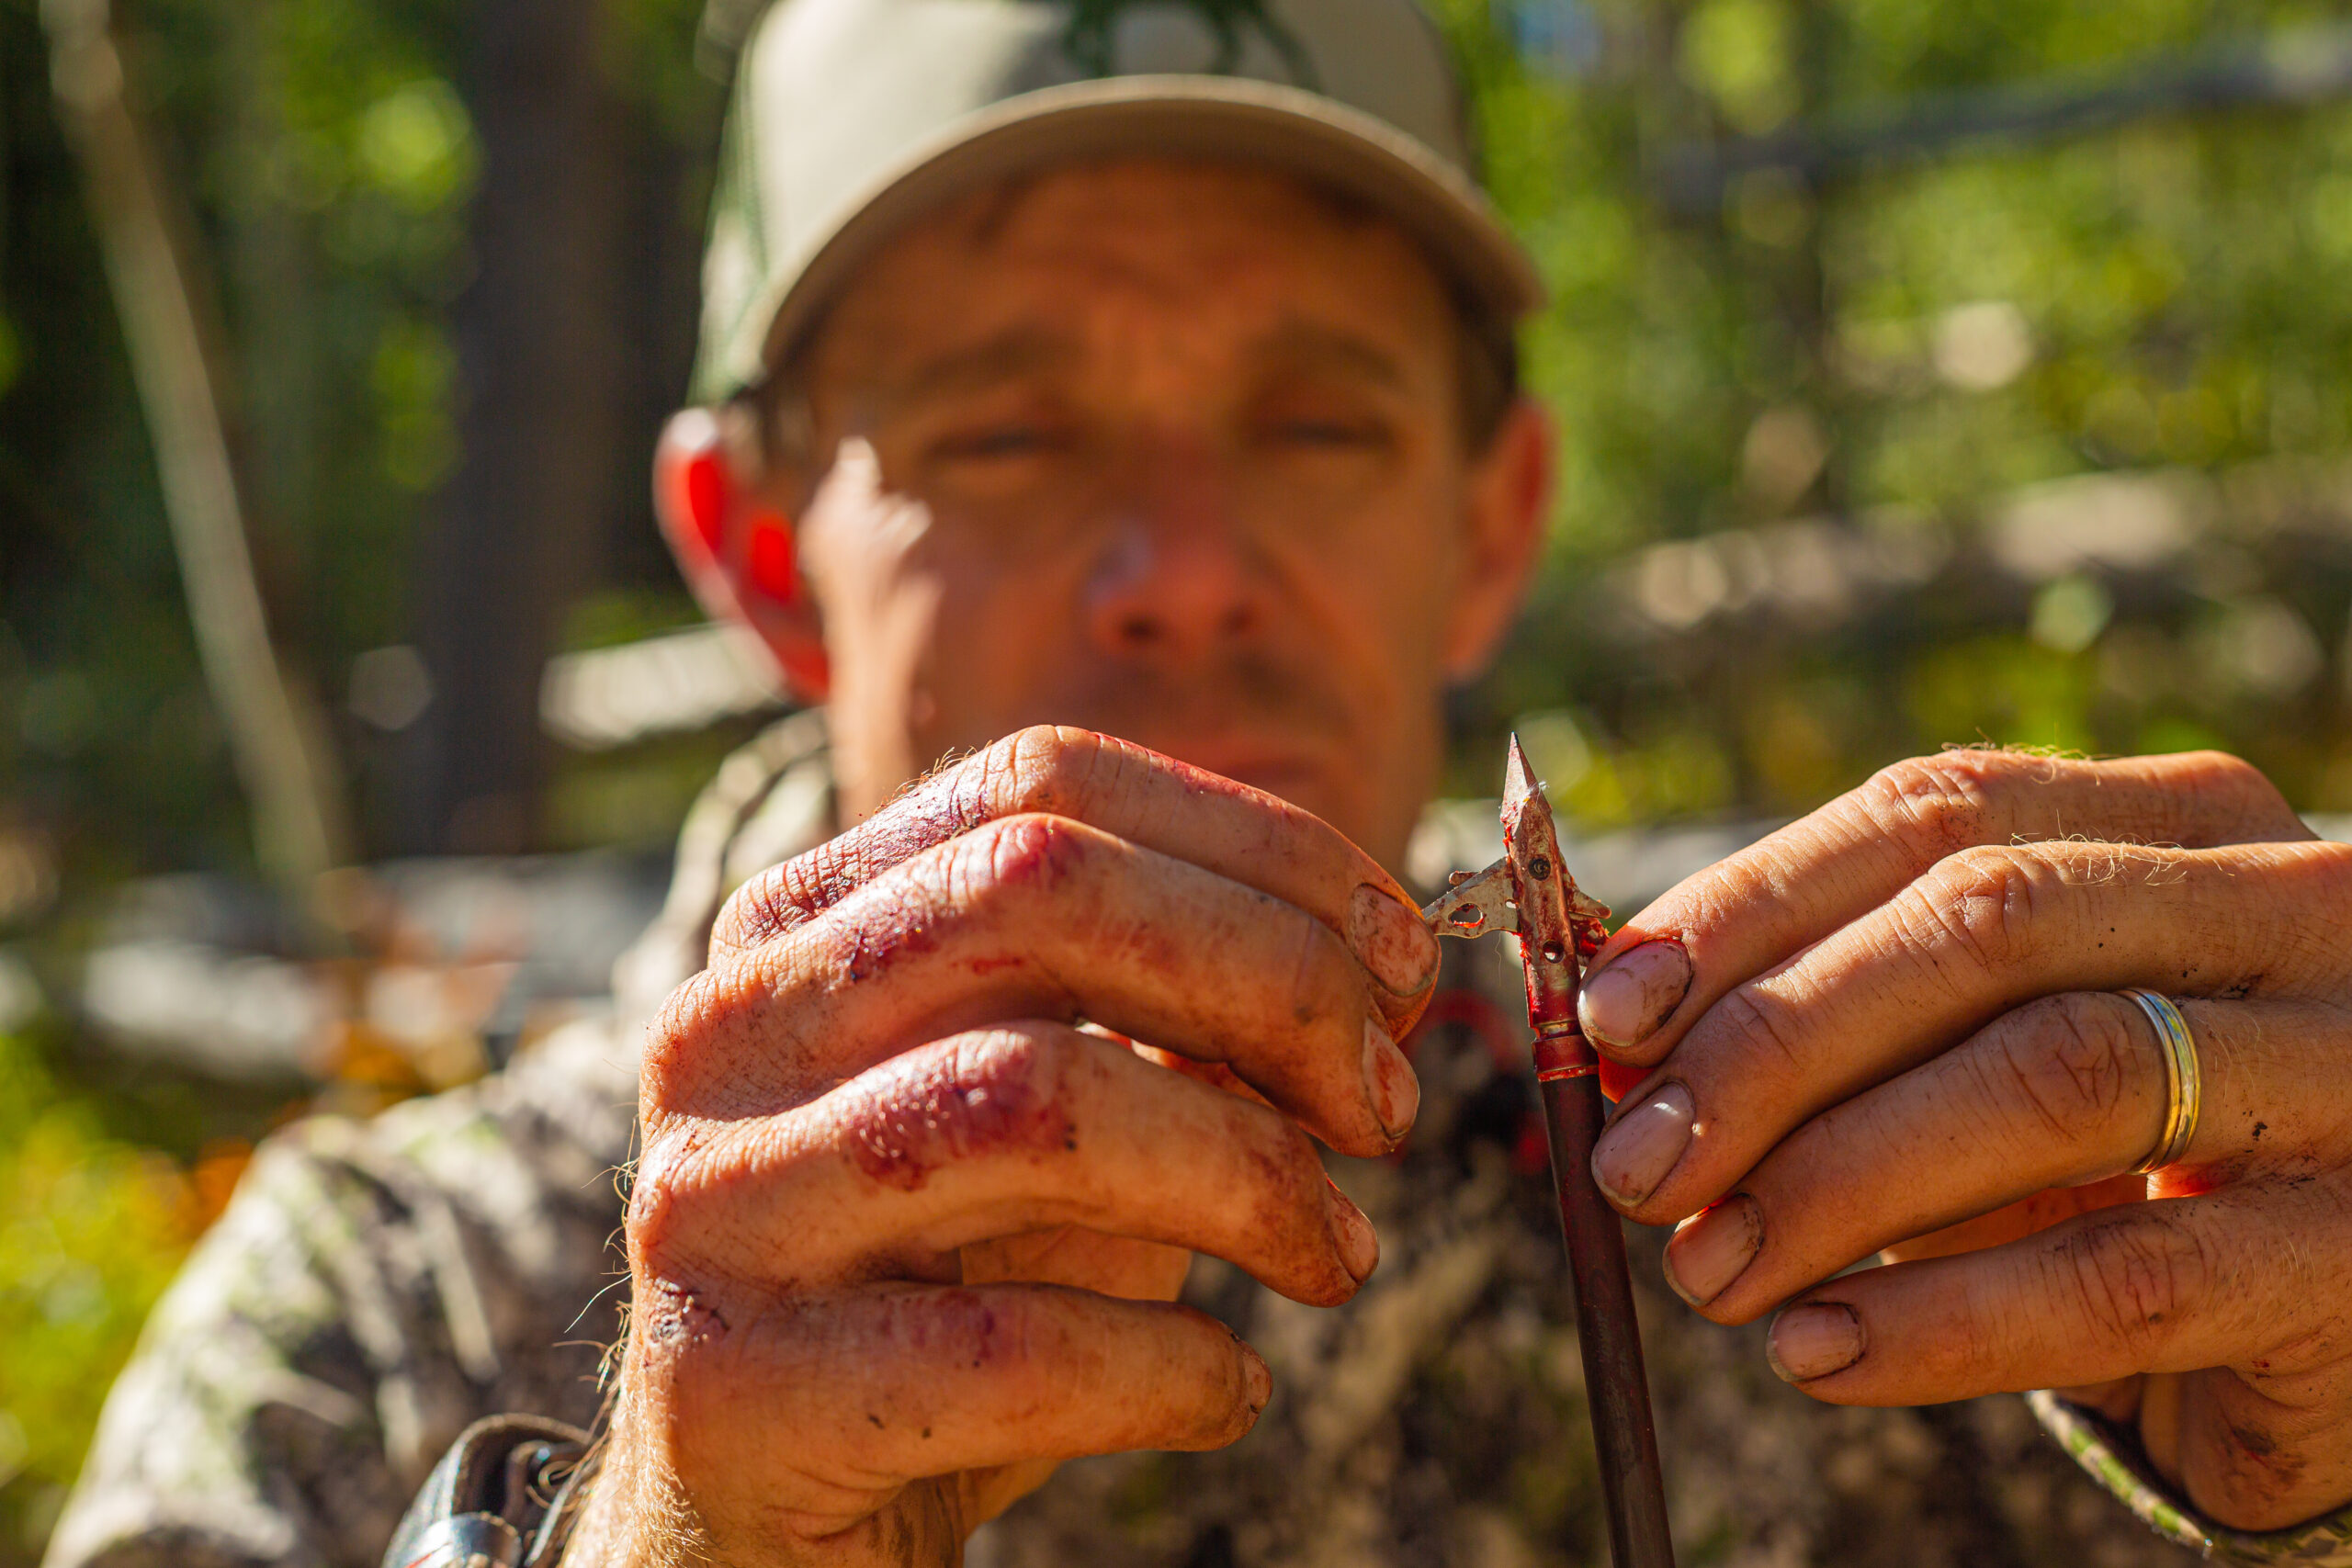
[[[647,1037],[644,1095],[656,1114],[771,1114],[929,1039],[1084,1018],[1223,1063],[1334,1147],[1383,1154],[1418,1086],[1369,992],[1296,905],[1018,816],[680,987]]]

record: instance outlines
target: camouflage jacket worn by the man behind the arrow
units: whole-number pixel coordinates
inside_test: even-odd
[[[828,813],[814,719],[771,729],[689,816],[670,903],[623,959],[612,1018],[463,1091],[266,1145],[113,1389],[49,1568],[372,1568],[470,1420],[590,1425],[626,1281],[614,1171],[630,1152],[635,1020],[701,966],[729,886],[814,842]],[[1225,1453],[1065,1465],[974,1537],[974,1568],[1606,1563],[1517,976],[1496,943],[1446,947],[1414,1041],[1409,1147],[1334,1161],[1383,1237],[1364,1293],[1312,1309],[1200,1260],[1188,1298],[1272,1366],[1258,1427]],[[2056,1401],[2065,1446],[2018,1399],[1818,1406],[1766,1371],[1762,1331],[1693,1316],[1656,1262],[1658,1237],[1637,1232],[1686,1568],[2133,1568],[2213,1552],[2129,1443]],[[2218,1554],[2352,1563],[2345,1540],[2230,1537]]]

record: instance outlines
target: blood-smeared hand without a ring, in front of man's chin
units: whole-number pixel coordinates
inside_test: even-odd
[[[1270,1378],[1174,1305],[1190,1253],[1355,1295],[1378,1241],[1308,1133],[1404,1135],[1435,973],[1329,825],[1068,729],[743,886],[647,1034],[569,1556],[953,1563],[1058,1460],[1249,1432]]]

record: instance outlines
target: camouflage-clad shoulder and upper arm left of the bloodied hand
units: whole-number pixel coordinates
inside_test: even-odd
[[[372,1563],[480,1415],[593,1420],[623,1046],[583,1020],[466,1088],[266,1140],[115,1382],[49,1561]]]

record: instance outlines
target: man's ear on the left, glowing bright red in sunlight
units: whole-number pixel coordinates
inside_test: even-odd
[[[670,555],[715,621],[753,628],[802,703],[826,701],[826,632],[793,555],[793,522],[748,473],[724,416],[684,409],[654,447],[654,517]]]

